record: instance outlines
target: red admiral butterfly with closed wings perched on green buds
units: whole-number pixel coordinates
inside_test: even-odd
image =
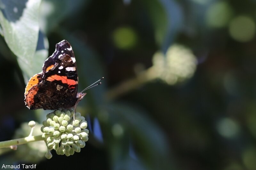
[[[80,93],[77,90],[76,59],[68,41],[63,40],[56,44],[54,53],[45,60],[43,71],[29,79],[24,101],[29,109],[76,108],[86,94],[82,93],[84,90]]]

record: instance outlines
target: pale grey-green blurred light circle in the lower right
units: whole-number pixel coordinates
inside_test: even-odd
[[[239,125],[230,118],[223,118],[217,123],[217,130],[223,137],[235,137],[239,129]]]

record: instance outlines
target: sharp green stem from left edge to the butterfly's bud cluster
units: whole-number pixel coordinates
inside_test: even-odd
[[[42,135],[28,136],[28,137],[23,137],[23,138],[19,138],[19,139],[2,141],[2,142],[0,142],[0,148],[9,148],[12,145],[27,144],[29,142],[36,142],[36,141],[40,141],[40,140],[44,140]]]

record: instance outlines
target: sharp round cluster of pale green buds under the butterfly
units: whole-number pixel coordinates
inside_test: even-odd
[[[47,148],[54,149],[58,155],[73,155],[80,152],[88,140],[89,130],[87,122],[80,113],[74,110],[55,110],[46,116],[47,120],[43,121],[41,131],[45,139]]]

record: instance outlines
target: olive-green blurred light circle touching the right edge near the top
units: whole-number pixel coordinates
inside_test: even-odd
[[[236,41],[250,41],[255,35],[255,22],[252,18],[238,16],[230,22],[229,34]]]

